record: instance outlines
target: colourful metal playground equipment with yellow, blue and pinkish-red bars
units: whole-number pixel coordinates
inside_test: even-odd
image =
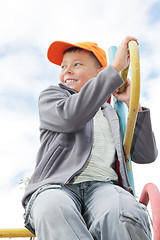
[[[131,100],[129,106],[128,121],[126,125],[125,109],[122,102],[115,101],[114,107],[118,112],[120,118],[121,135],[123,139],[124,153],[126,159],[126,165],[128,170],[129,181],[134,190],[134,181],[132,174],[132,165],[130,158],[130,148],[132,143],[132,137],[139,106],[139,93],[140,93],[140,66],[139,66],[139,51],[136,42],[129,42],[129,51],[131,59]],[[109,49],[110,63],[113,61],[116,53],[116,47]],[[127,80],[128,68],[121,72],[121,77],[124,82]],[[125,83],[120,88],[120,91],[124,91]],[[135,191],[135,190],[134,190]],[[140,196],[140,203],[145,206],[150,201],[152,222],[153,222],[153,235],[154,240],[160,240],[160,192],[153,183],[148,183],[144,186],[142,194]],[[0,229],[0,238],[34,238],[35,236],[27,229]]]

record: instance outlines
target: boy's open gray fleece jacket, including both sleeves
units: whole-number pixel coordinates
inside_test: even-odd
[[[131,191],[124,160],[119,119],[106,101],[123,80],[112,67],[89,80],[79,93],[59,84],[39,98],[40,140],[35,171],[25,189],[22,203],[38,188],[50,183],[68,183],[86,164],[92,149],[93,117],[101,107],[108,119],[117,152],[116,170],[121,185]],[[150,163],[157,157],[150,111],[138,113],[131,148],[132,161]]]

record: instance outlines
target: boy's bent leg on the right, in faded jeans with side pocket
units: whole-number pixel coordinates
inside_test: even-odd
[[[94,239],[151,239],[147,213],[123,188],[95,183],[85,195],[85,205],[84,218]]]

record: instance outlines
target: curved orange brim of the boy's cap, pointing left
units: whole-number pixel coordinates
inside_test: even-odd
[[[54,64],[61,65],[64,51],[71,47],[77,47],[77,45],[63,41],[53,42],[49,46],[47,52],[47,57],[49,61]]]

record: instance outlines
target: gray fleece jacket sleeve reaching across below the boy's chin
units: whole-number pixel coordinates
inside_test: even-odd
[[[39,98],[40,128],[55,132],[75,132],[90,121],[123,80],[112,65],[90,79],[79,93],[70,94],[50,87]]]

